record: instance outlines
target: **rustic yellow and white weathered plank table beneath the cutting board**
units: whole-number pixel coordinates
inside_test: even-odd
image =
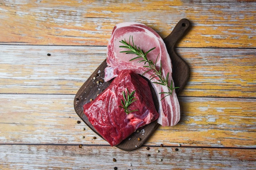
[[[110,147],[75,113],[76,92],[115,24],[164,38],[182,18],[180,122],[137,150]],[[256,169],[255,30],[254,0],[0,0],[0,169]]]

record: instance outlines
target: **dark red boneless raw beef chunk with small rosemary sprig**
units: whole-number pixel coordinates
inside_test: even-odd
[[[124,111],[121,99],[127,89],[137,99],[128,109],[138,110],[128,114]],[[158,113],[155,109],[148,81],[131,70],[123,70],[115,78],[110,86],[97,98],[83,106],[84,113],[88,117],[96,131],[111,145],[115,146],[139,127],[157,120]]]

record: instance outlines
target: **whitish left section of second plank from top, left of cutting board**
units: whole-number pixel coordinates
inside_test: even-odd
[[[76,94],[106,59],[106,47],[0,46],[0,49],[0,93]]]

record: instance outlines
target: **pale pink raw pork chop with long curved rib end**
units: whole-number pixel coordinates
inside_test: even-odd
[[[159,55],[156,65],[160,68],[160,61],[162,62],[162,76],[165,78],[169,72],[168,84],[170,85],[172,82],[172,65],[163,39],[152,28],[144,24],[130,22],[117,24],[112,31],[112,36],[107,47],[108,67],[105,69],[105,81],[109,81],[116,77],[121,70],[130,69],[137,74],[143,74],[148,70],[148,68],[143,67],[144,62],[137,62],[140,59],[130,61],[130,59],[137,57],[136,54],[125,54],[120,52],[126,51],[127,49],[120,48],[119,46],[123,46],[124,44],[121,44],[119,41],[125,39],[126,42],[129,42],[130,36],[133,37],[134,44],[144,50],[144,52],[155,47],[154,50],[148,53],[147,57],[155,62]],[[132,44],[132,40],[130,40],[130,43]],[[149,71],[146,72],[144,76],[150,79],[152,74],[153,72]],[[157,82],[157,78],[153,78],[151,82]],[[169,92],[168,88],[157,83],[152,83],[152,86],[158,94],[158,123],[162,126],[174,126],[180,121],[180,104],[175,89],[173,90],[172,95],[162,99],[165,94],[159,93]]]

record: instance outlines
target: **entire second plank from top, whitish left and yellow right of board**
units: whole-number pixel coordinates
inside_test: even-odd
[[[106,46],[0,45],[0,93],[76,94]],[[256,97],[256,50],[177,48],[190,66],[180,96]],[[51,56],[47,56],[47,54]]]

